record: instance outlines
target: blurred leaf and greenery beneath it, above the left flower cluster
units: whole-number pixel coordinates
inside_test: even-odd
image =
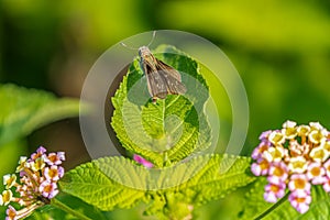
[[[26,155],[24,138],[31,132],[56,120],[79,114],[77,99],[58,99],[51,92],[11,84],[0,85],[0,176],[12,173],[19,156]],[[0,216],[4,218],[2,206]]]

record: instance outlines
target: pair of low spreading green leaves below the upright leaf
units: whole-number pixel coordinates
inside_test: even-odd
[[[145,201],[150,204],[146,215],[178,217],[187,216],[194,207],[251,183],[254,177],[246,174],[249,164],[246,157],[197,156],[174,166],[172,170],[161,169],[156,178],[153,169],[136,166],[130,158],[105,157],[72,169],[59,185],[62,191],[103,211],[130,208]],[[191,178],[186,178],[190,174]],[[183,179],[185,182],[180,184]],[[168,186],[166,183],[178,184],[164,188]]]

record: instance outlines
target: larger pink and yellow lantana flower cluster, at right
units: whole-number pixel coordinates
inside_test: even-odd
[[[252,173],[266,176],[264,199],[276,202],[288,191],[290,205],[300,213],[309,209],[311,185],[330,191],[330,132],[319,122],[263,132],[253,151]]]

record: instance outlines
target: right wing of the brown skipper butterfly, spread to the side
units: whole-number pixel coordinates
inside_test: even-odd
[[[160,59],[157,59],[156,68],[163,81],[166,84],[167,94],[179,95],[187,91],[187,88],[182,82],[182,76],[178,70]]]

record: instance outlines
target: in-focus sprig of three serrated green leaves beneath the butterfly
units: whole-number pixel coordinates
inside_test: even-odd
[[[206,80],[198,63],[178,50],[163,45],[155,55],[182,73],[187,92],[152,103],[135,59],[112,98],[111,125],[123,147],[156,167],[147,169],[124,157],[99,158],[67,173],[61,188],[103,211],[144,201],[148,205],[145,215],[185,219],[195,207],[224,197],[254,178],[245,173],[249,158],[196,154],[211,142],[205,113]]]

